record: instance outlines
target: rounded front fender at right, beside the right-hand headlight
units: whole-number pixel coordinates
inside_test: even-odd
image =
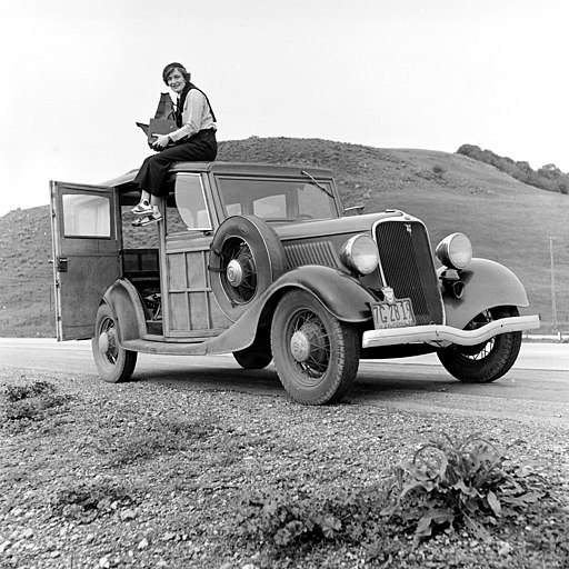
[[[445,267],[437,270],[441,274]],[[455,298],[440,284],[447,325],[462,329],[480,312],[498,306],[527,307],[526,289],[516,274],[496,261],[472,259],[468,269],[460,271],[465,283],[462,298]]]

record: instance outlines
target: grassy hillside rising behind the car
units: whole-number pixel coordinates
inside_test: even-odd
[[[331,168],[345,206],[412,213],[427,223],[433,246],[450,232],[467,233],[475,256],[506,264],[522,280],[543,330],[552,327],[552,238],[558,328],[569,330],[569,196],[428,150],[251,137],[221,142],[218,159]],[[0,218],[0,336],[54,336],[50,259],[48,206]]]

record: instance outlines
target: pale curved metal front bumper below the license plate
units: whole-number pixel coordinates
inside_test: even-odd
[[[413,342],[430,343],[440,348],[446,348],[451,343],[476,346],[499,333],[521,332],[537,328],[539,328],[539,317],[536,315],[500,318],[500,320],[493,320],[476,330],[459,330],[445,325],[387,328],[363,332],[361,346],[362,348],[377,348]]]

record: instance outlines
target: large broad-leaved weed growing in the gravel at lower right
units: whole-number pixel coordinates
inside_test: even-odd
[[[416,539],[461,523],[488,538],[486,526],[497,523],[505,505],[520,506],[542,496],[528,491],[522,477],[507,465],[508,450],[521,442],[499,449],[479,435],[455,441],[443,433],[430,440],[396,469],[398,495],[390,513],[415,523]]]

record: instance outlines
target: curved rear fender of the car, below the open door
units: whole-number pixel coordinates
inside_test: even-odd
[[[119,340],[138,340],[146,335],[146,317],[142,300],[133,284],[124,279],[116,280],[104,293],[103,301],[117,318]]]

